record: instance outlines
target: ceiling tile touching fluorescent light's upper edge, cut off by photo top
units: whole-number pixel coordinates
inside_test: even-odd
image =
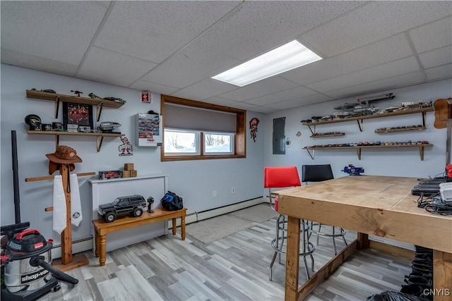
[[[218,1],[215,1],[218,3]],[[196,39],[237,59],[251,59],[364,1],[244,1]]]

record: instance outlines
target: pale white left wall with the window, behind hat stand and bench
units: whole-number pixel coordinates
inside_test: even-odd
[[[17,132],[18,174],[20,186],[21,221],[30,221],[31,228],[37,228],[45,238],[54,238],[59,243],[59,235],[52,231],[52,212],[45,207],[52,206],[53,182],[44,180],[25,183],[25,178],[47,176],[49,160],[45,154],[55,150],[54,135],[28,135],[28,125],[24,118],[35,113],[42,123],[62,122],[54,119],[54,102],[28,99],[25,90],[52,89],[59,94],[71,94],[71,90],[80,90],[84,97],[93,92],[100,97],[121,97],[127,103],[120,109],[102,109],[101,121],[121,123],[121,133],[126,134],[134,145],[133,116],[149,110],[160,112],[160,94],[153,94],[153,104],[141,104],[138,90],[106,85],[99,82],[69,78],[61,75],[42,73],[35,70],[1,65],[1,225],[15,223],[13,206],[13,177],[11,160],[11,130]],[[246,122],[257,117],[263,121],[263,115],[247,112]],[[247,131],[246,159],[217,159],[198,161],[160,161],[160,147],[133,147],[133,156],[119,156],[119,137],[105,137],[100,152],[96,150],[95,137],[60,138],[60,145],[69,145],[76,149],[83,159],[76,164],[77,173],[121,169],[124,163],[133,163],[138,174],[163,173],[169,176],[169,190],[184,197],[188,213],[203,211],[253,199],[262,195],[263,183],[263,126],[259,125],[258,136],[254,142]],[[83,216],[90,214],[91,177],[79,178]],[[93,177],[94,178],[94,177]],[[231,188],[235,193],[231,193]],[[216,190],[217,197],[212,197]],[[121,191],[117,192],[121,195]],[[156,201],[162,195],[153,195]],[[109,201],[109,200],[108,200]],[[83,219],[81,225],[73,227],[73,239],[89,236],[91,221]]]

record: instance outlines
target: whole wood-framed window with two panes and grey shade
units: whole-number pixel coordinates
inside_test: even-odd
[[[246,111],[162,95],[162,161],[244,158]]]

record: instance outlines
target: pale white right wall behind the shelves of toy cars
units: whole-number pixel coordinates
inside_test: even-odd
[[[402,102],[416,102],[420,100],[434,102],[436,99],[452,96],[452,80],[441,80],[423,85],[405,87],[403,89],[377,92],[371,95],[382,94],[383,92],[393,92],[396,98],[391,101],[374,102],[372,104],[381,109],[396,104],[400,105]],[[301,172],[301,166],[303,164],[331,164],[335,178],[347,176],[347,173],[343,173],[341,170],[348,164],[363,167],[364,174],[377,176],[424,178],[429,176],[434,177],[444,172],[446,165],[446,129],[434,128],[434,112],[427,113],[427,130],[387,134],[374,133],[376,128],[422,124],[422,116],[419,113],[364,120],[364,129],[362,132],[359,132],[357,121],[317,125],[316,130],[318,133],[338,131],[344,132],[345,136],[310,138],[311,131],[306,125],[302,125],[300,121],[311,118],[311,116],[332,114],[336,111],[333,109],[334,106],[345,102],[355,103],[357,102],[357,97],[268,114],[266,116],[266,123],[263,124],[263,130],[266,133],[264,142],[265,166],[296,165],[299,167],[299,172]],[[292,144],[286,148],[285,155],[273,155],[271,145],[272,123],[273,118],[280,117],[286,117],[285,134],[286,137],[290,138]],[[301,131],[301,137],[296,136],[297,131]],[[408,140],[427,140],[434,146],[425,147],[424,161],[420,160],[417,147],[362,149],[361,160],[358,160],[355,149],[316,150],[314,160],[311,159],[305,149],[302,149],[309,145],[323,145],[328,143]]]

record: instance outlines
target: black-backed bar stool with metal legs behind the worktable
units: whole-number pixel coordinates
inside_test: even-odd
[[[324,180],[333,179],[333,171],[331,170],[330,164],[317,164],[317,165],[303,165],[302,166],[302,182],[321,182]],[[319,230],[314,230],[314,226],[319,226]],[[339,232],[336,231],[336,227],[333,226],[331,233],[321,232],[321,223],[311,222],[311,233],[317,235],[317,245],[319,245],[319,235],[330,237],[333,240],[334,254],[338,254],[336,250],[335,238],[342,238],[347,245],[347,240],[345,240],[345,231],[343,228],[339,228]]]

